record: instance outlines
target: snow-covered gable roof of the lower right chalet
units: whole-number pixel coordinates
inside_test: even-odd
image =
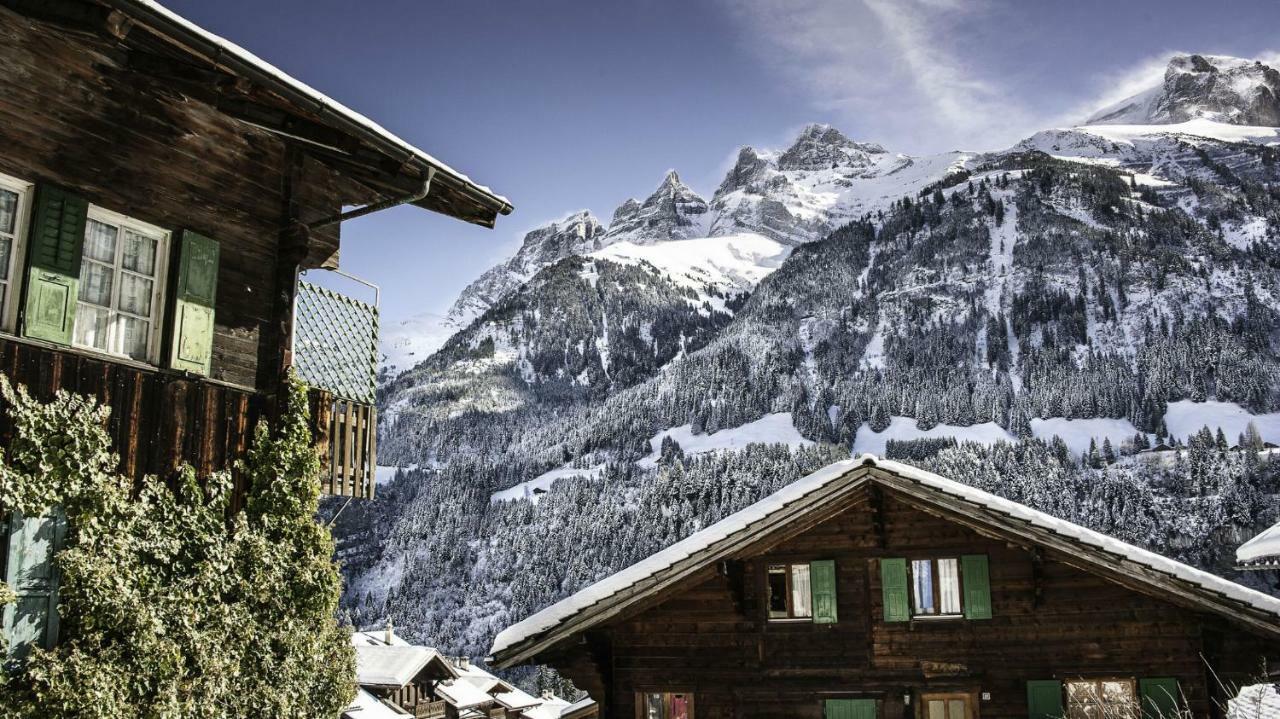
[[[489,651],[490,664],[506,668],[527,661],[868,482],[933,505],[975,528],[980,526],[1060,550],[1064,560],[1083,569],[1124,578],[1170,601],[1194,604],[1254,629],[1280,635],[1280,599],[932,472],[864,454],[818,470],[503,629]]]

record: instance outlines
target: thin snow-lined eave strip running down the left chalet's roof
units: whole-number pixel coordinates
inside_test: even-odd
[[[204,55],[214,65],[230,69],[236,74],[269,87],[289,102],[328,118],[338,128],[364,138],[378,151],[398,160],[402,165],[416,166],[419,170],[428,173],[439,171],[440,177],[436,182],[443,182],[447,187],[461,192],[476,205],[493,210],[498,215],[509,215],[515,210],[506,197],[476,184],[471,178],[396,137],[369,118],[289,77],[252,52],[200,28],[154,0],[100,1],[128,15],[140,18],[146,24],[157,28],[164,35]]]

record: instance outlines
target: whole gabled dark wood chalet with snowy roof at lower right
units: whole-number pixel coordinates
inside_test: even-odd
[[[896,462],[827,467],[502,632],[602,716],[1220,716],[1280,599]]]

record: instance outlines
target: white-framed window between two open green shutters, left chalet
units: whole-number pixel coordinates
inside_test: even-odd
[[[73,342],[155,361],[169,233],[90,206]]]

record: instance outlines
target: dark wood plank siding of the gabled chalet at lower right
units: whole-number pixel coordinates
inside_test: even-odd
[[[767,550],[707,568],[687,589],[604,631],[593,650],[553,655],[605,692],[608,715],[635,716],[635,692],[695,692],[698,719],[822,716],[823,699],[874,697],[881,716],[913,716],[920,691],[989,692],[982,716],[1025,716],[1028,679],[1176,677],[1197,716],[1226,682],[1280,646],[1043,555],[865,490],[841,514]],[[879,522],[873,523],[873,517]],[[882,527],[878,530],[877,527]],[[881,557],[987,554],[993,618],[886,623]],[[835,559],[838,622],[765,620],[771,562]],[[918,695],[916,695],[918,696]]]

